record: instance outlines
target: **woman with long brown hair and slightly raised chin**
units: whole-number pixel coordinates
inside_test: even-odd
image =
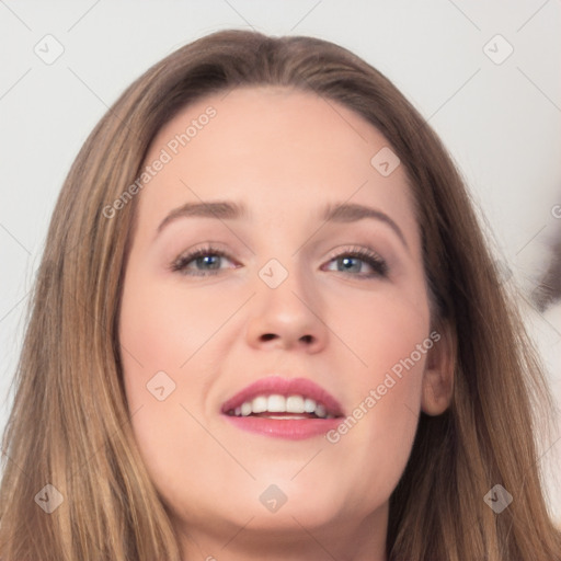
[[[219,32],[138,79],[65,183],[1,556],[561,559],[548,399],[400,92],[336,45]]]

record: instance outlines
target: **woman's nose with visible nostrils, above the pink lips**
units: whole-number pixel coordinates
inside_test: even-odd
[[[272,288],[257,279],[256,295],[251,299],[247,337],[254,348],[305,350],[318,353],[324,348],[329,329],[321,318],[323,307],[310,277],[290,271],[280,285]]]

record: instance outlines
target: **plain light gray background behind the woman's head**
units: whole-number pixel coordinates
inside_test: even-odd
[[[421,111],[482,208],[561,402],[561,306],[539,313],[527,301],[551,256],[549,243],[561,236],[561,213],[556,218],[552,210],[561,204],[560,24],[559,0],[0,0],[0,428],[28,290],[80,146],[149,66],[226,27],[339,43],[386,73]],[[508,45],[514,50],[501,61]],[[56,48],[64,53],[53,64],[35,53],[46,58]],[[559,467],[560,436],[557,431],[540,465],[561,522],[551,468]]]

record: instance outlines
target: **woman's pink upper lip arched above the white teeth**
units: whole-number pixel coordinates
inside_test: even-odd
[[[221,408],[222,413],[234,410],[244,401],[251,401],[257,396],[302,396],[310,398],[318,403],[322,403],[328,413],[333,416],[342,416],[343,408],[341,403],[325,389],[307,378],[283,378],[282,376],[267,376],[261,378],[249,386],[232,398],[225,401]]]

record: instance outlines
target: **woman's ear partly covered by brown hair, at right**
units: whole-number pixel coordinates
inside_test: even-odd
[[[426,354],[421,409],[427,415],[439,415],[448,409],[454,394],[457,339],[448,321],[438,322],[431,339],[434,345]]]

